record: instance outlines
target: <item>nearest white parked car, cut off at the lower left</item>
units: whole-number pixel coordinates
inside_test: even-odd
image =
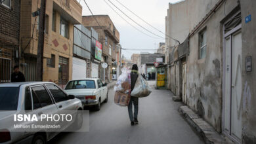
[[[72,111],[74,120],[60,124],[58,132],[40,128],[39,132],[17,132],[12,123],[15,115],[58,115]],[[81,111],[79,111],[81,110]],[[12,82],[0,84],[0,143],[46,143],[69,126],[81,127],[83,124],[82,104],[74,96],[68,96],[53,82]],[[16,116],[18,117],[18,116]],[[40,120],[21,120],[20,124],[42,124]],[[50,122],[47,124],[50,124]]]

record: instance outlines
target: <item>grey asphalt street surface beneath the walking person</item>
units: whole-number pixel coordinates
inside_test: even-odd
[[[89,132],[61,133],[49,143],[203,143],[179,115],[182,103],[172,97],[168,90],[152,88],[150,96],[139,99],[139,124],[131,126],[127,107],[116,105],[114,91],[109,90],[108,103],[103,103],[100,111],[90,111]]]

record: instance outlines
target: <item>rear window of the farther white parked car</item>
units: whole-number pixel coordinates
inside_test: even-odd
[[[65,90],[82,89],[82,88],[95,88],[95,81],[93,80],[79,80],[68,82]]]

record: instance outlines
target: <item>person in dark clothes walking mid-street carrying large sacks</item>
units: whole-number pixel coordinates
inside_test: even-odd
[[[135,87],[135,83],[138,78],[138,66],[136,64],[133,65],[131,69],[131,91],[133,91],[133,88]],[[128,105],[128,113],[129,118],[131,120],[131,126],[138,124],[138,109],[139,109],[139,98],[131,96],[129,105]],[[134,114],[133,114],[133,106],[134,106]]]

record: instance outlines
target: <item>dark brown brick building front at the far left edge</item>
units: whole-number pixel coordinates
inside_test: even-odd
[[[11,73],[19,63],[20,1],[0,2],[0,83],[11,82]]]

